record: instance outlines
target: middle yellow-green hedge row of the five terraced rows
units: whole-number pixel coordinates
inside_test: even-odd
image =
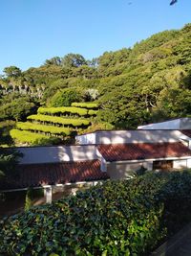
[[[49,115],[31,115],[27,117],[28,120],[36,120],[40,122],[49,122],[53,124],[60,124],[64,126],[73,126],[73,127],[81,127],[81,126],[89,126],[91,122],[86,119],[69,119],[62,118],[57,116],[49,116]]]

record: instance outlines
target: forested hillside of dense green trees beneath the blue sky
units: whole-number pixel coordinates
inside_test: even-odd
[[[26,121],[42,106],[100,105],[95,127],[138,125],[191,114],[191,24],[164,31],[132,49],[87,60],[47,59],[38,68],[10,66],[0,78],[0,119]]]

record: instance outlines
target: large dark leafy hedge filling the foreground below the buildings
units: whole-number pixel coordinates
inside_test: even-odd
[[[190,213],[190,198],[189,172],[107,181],[0,221],[0,251],[3,255],[149,255],[175,226],[180,228]]]

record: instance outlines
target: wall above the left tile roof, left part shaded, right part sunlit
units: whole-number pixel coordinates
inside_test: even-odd
[[[59,163],[63,161],[83,161],[97,159],[96,146],[33,147],[17,148],[24,156],[21,164]]]

